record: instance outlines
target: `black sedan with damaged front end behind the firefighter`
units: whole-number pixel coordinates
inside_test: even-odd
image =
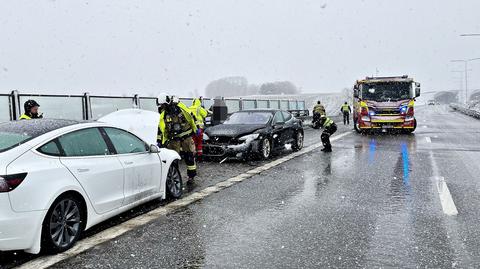
[[[300,119],[278,109],[243,110],[233,113],[220,125],[207,128],[205,157],[268,159],[287,144],[293,151],[303,148],[304,132]]]

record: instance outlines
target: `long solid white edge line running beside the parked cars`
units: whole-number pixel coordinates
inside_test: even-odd
[[[336,141],[339,140],[340,138],[343,138],[344,136],[347,136],[349,134],[352,134],[353,131],[346,132],[343,134],[339,134],[336,136],[333,136],[330,141]],[[140,226],[143,226],[145,224],[148,224],[149,222],[152,222],[153,220],[165,216],[167,214],[170,214],[179,208],[185,207],[187,205],[190,205],[196,201],[202,200],[203,198],[219,192],[222,189],[228,188],[238,182],[242,182],[245,179],[251,178],[254,175],[258,175],[266,170],[269,170],[277,165],[280,165],[284,162],[287,162],[293,158],[296,158],[298,156],[307,154],[309,152],[312,152],[313,150],[323,146],[322,143],[316,143],[311,146],[308,146],[300,151],[293,152],[285,157],[282,157],[280,159],[277,159],[275,161],[269,162],[267,164],[264,164],[262,166],[259,166],[257,168],[254,168],[252,170],[249,170],[243,174],[231,177],[229,179],[226,179],[224,181],[221,181],[213,186],[207,187],[201,191],[191,193],[188,196],[176,200],[174,202],[171,202],[165,206],[159,207],[157,209],[154,209],[152,211],[149,211],[143,215],[140,215],[138,217],[135,217],[133,219],[130,219],[126,222],[123,222],[117,226],[108,228],[100,233],[97,233],[91,237],[82,239],[81,241],[77,242],[77,244],[69,249],[66,252],[53,255],[53,256],[44,256],[44,257],[39,257],[34,260],[31,260],[29,262],[24,263],[23,265],[20,265],[19,269],[44,269],[48,268],[56,263],[59,263],[63,260],[69,259],[71,257],[74,257],[82,252],[85,252],[99,244],[105,243],[107,241],[110,241],[116,237],[121,236],[122,234],[131,231],[135,228],[138,228]]]

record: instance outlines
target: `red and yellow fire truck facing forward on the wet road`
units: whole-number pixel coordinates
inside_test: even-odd
[[[411,133],[417,127],[415,98],[420,83],[407,75],[366,77],[353,86],[353,121],[357,132],[400,130]]]

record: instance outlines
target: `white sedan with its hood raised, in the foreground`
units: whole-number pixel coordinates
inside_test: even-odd
[[[155,145],[158,120],[132,109],[0,123],[0,251],[65,251],[101,221],[180,197],[180,156]]]

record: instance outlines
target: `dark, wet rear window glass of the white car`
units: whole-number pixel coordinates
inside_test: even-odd
[[[0,123],[0,152],[15,148],[35,137],[78,123],[70,120],[22,120]]]

